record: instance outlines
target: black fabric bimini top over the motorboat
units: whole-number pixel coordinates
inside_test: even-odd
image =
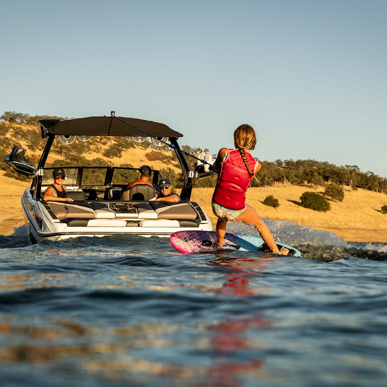
[[[125,136],[142,137],[183,137],[183,135],[163,123],[140,120],[138,118],[86,117],[69,120],[40,120],[43,133],[55,135]],[[133,125],[133,126],[131,126]],[[137,129],[138,128],[138,129]],[[141,130],[144,132],[141,132]]]

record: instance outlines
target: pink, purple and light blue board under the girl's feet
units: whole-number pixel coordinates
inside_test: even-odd
[[[216,253],[220,251],[262,251],[271,253],[271,249],[259,236],[230,234],[224,235],[224,244],[221,248],[215,248],[215,231],[176,231],[170,236],[173,247],[183,254]],[[294,247],[276,242],[280,249],[289,249],[289,256],[301,257],[301,252]]]

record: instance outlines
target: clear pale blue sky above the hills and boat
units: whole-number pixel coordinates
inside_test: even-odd
[[[0,2],[0,114],[166,123],[181,145],[387,176],[387,1]]]

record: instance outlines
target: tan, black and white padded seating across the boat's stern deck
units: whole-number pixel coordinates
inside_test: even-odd
[[[74,227],[125,227],[139,219],[142,227],[198,227],[197,212],[187,203],[168,202],[44,202],[51,216]]]

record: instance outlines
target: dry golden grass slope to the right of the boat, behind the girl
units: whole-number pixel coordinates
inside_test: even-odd
[[[330,201],[327,212],[313,211],[300,206],[300,196],[311,187],[284,185],[277,187],[249,188],[247,203],[252,205],[261,216],[273,220],[286,220],[321,231],[330,231],[350,242],[387,242],[387,214],[380,208],[387,205],[387,196],[376,192],[358,189],[349,193],[344,189],[342,202]],[[212,188],[196,188],[191,200],[200,202],[209,214],[213,224],[216,221],[211,210]],[[323,194],[323,191],[314,191]],[[267,195],[279,201],[279,207],[263,204]]]

